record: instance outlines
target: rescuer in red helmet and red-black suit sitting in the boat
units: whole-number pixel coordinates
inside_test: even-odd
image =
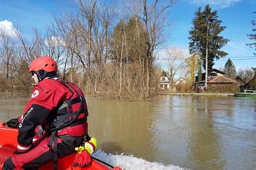
[[[74,83],[57,76],[57,64],[52,57],[37,57],[29,72],[34,79],[31,99],[23,116],[10,119],[6,126],[18,128],[18,146],[3,169],[38,169],[46,162],[70,155],[86,143],[90,154],[97,141],[87,135],[87,103],[84,94]]]

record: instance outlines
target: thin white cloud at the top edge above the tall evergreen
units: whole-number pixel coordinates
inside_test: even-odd
[[[218,8],[228,8],[231,5],[240,2],[241,0],[192,0],[192,4],[196,5],[213,5]]]

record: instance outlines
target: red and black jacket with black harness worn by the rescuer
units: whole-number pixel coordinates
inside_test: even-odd
[[[57,136],[87,135],[87,116],[87,103],[79,87],[61,78],[42,80],[34,86],[19,117],[18,151],[30,149],[38,126],[46,132],[57,131]]]

